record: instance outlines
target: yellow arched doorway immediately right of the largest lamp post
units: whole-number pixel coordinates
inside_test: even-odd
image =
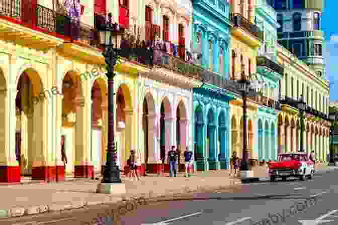
[[[136,157],[139,158],[139,153],[133,149],[132,145],[132,115],[133,107],[129,88],[126,84],[121,84],[116,92],[116,138],[117,151],[120,161],[120,167],[123,168],[124,173],[128,172],[127,160],[131,150],[134,150]],[[139,162],[137,162],[139,167]]]

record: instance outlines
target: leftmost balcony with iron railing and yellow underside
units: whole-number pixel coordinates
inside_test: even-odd
[[[0,20],[0,39],[29,48],[48,50],[65,42],[86,48],[98,46],[98,35],[93,27],[41,5],[29,5],[20,0],[1,0]]]

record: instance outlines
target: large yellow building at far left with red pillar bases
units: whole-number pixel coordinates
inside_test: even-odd
[[[105,61],[94,24],[102,19],[100,10],[115,12],[114,5],[100,8],[101,1],[83,1],[81,16],[69,18],[55,16],[52,9],[59,7],[51,1],[6,3],[0,4],[0,177],[4,182],[20,181],[22,175],[43,180],[62,180],[65,173],[91,177],[104,162],[108,118]],[[31,14],[28,8],[44,13]],[[138,68],[125,62],[116,68],[114,113],[121,161],[137,148]]]

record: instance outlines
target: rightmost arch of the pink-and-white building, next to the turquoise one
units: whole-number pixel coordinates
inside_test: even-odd
[[[187,112],[183,100],[179,102],[176,109],[176,143],[177,148],[181,153],[186,149],[186,137],[187,137]],[[181,155],[181,154],[180,154]],[[184,159],[179,157],[179,170],[184,170]]]

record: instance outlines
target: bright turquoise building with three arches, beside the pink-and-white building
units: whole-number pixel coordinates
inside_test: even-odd
[[[193,1],[193,48],[196,64],[210,72],[205,84],[193,89],[194,144],[198,170],[229,168],[229,101],[224,89],[229,75],[229,4]]]

